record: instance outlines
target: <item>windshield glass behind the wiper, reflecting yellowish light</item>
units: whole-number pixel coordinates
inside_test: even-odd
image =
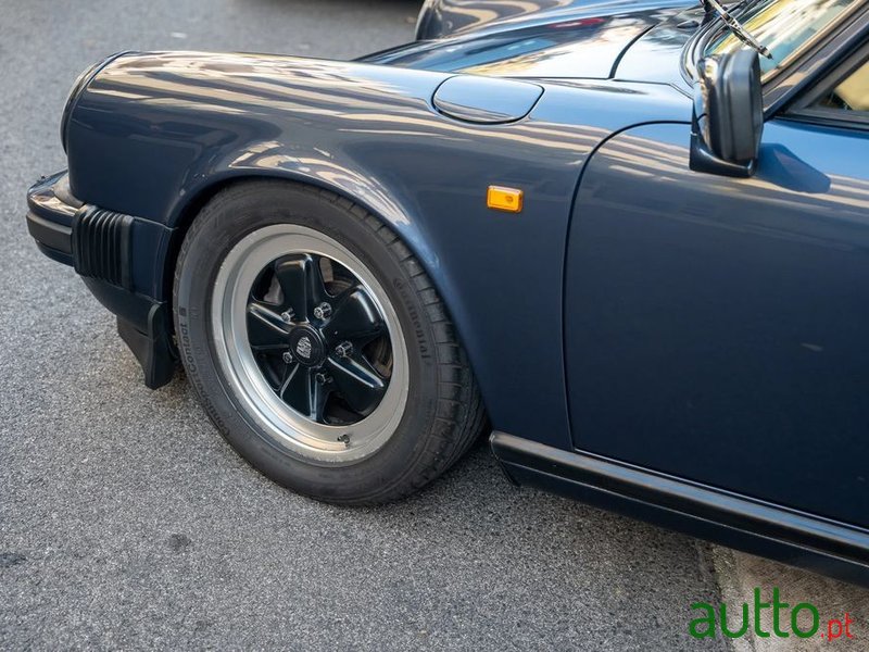
[[[747,12],[733,14],[772,53],[772,59],[760,58],[760,70],[767,74],[786,64],[857,3],[858,0],[763,0],[750,3]],[[743,47],[739,38],[726,30],[706,47],[704,55]]]

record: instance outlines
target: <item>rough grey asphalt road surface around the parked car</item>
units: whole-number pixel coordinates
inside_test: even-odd
[[[65,166],[60,112],[98,58],[345,59],[408,40],[417,10],[0,0],[0,649],[722,650],[688,636],[690,604],[773,585],[869,617],[860,589],[517,490],[483,444],[400,504],[289,493],[236,456],[182,374],[146,389],[113,318],[37,252],[24,193]]]

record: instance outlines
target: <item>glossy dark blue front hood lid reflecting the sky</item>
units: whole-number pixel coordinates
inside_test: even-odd
[[[500,21],[363,61],[498,77],[608,78],[626,48],[693,0],[592,3]]]

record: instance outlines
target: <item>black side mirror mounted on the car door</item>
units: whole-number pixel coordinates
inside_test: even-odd
[[[694,83],[691,170],[752,176],[763,133],[757,52],[736,50],[701,60]]]

